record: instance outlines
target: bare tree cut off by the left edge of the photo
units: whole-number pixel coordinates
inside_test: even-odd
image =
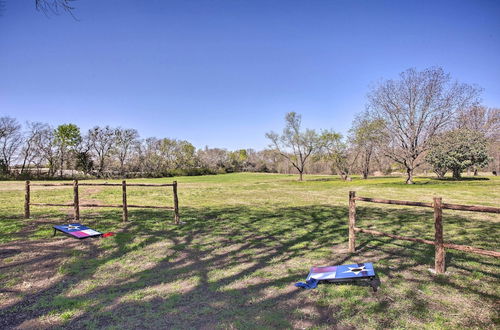
[[[11,117],[0,117],[0,171],[10,173],[11,162],[22,143],[21,125]]]

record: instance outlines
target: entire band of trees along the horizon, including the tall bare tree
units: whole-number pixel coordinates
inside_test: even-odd
[[[0,178],[165,177],[230,172],[372,174],[464,170],[500,172],[500,110],[479,104],[480,89],[451,80],[440,68],[409,69],[368,94],[347,136],[301,129],[285,117],[269,149],[196,149],[189,141],[141,138],[133,128],[75,124],[21,125],[0,117]]]

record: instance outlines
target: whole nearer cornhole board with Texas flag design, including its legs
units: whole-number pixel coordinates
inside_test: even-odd
[[[352,282],[357,280],[368,281],[373,291],[377,291],[377,275],[371,262],[338,265],[327,267],[313,267],[307,275],[306,281],[315,279],[331,283]]]

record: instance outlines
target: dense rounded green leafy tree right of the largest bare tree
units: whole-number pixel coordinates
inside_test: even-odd
[[[488,165],[488,140],[483,133],[469,129],[455,129],[436,136],[426,156],[434,172],[444,177],[446,171],[459,179],[470,166]]]

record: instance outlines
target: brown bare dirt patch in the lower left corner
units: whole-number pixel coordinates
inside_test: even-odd
[[[43,307],[38,311],[23,307],[33,305],[49,292],[60,289],[58,284],[64,283],[66,277],[60,267],[75,253],[89,258],[97,256],[99,251],[92,240],[72,238],[17,241],[0,245],[0,273],[9,274],[8,278],[1,279],[0,328],[9,328],[13,324],[26,329],[46,328],[49,324],[39,324],[32,319],[33,314],[47,312],[43,311]],[[4,314],[6,309],[19,312]],[[22,320],[29,322],[23,323]]]

